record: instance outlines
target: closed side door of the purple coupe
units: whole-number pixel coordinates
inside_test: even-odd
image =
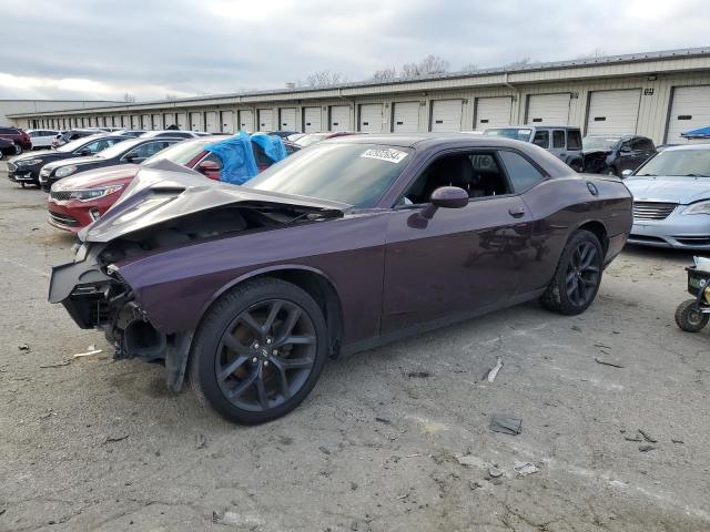
[[[520,253],[529,245],[531,233],[529,213],[523,200],[511,193],[495,150],[470,150],[465,156],[474,178],[452,175],[449,183],[438,183],[468,186],[470,200],[465,207],[439,208],[428,222],[420,217],[425,205],[418,202],[409,205],[405,201],[392,212],[382,334],[491,308],[517,289]],[[413,181],[413,197],[437,163]],[[488,183],[483,183],[486,180]],[[422,197],[429,197],[435,188],[429,186]]]

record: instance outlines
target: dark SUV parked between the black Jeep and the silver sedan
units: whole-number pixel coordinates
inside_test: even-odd
[[[606,168],[609,175],[621,177],[625,170],[635,171],[649,157],[656,155],[653,141],[637,135],[595,135],[582,140],[585,156],[595,153],[606,155]]]

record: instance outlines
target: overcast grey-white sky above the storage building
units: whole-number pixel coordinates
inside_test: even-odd
[[[138,100],[709,47],[709,0],[0,0],[0,99]]]

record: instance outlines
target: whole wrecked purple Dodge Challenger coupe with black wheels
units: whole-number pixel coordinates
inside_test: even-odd
[[[538,298],[595,299],[631,228],[615,177],[466,134],[314,145],[244,186],[141,170],[53,268],[50,301],[116,358],[162,360],[227,419],[294,409],[328,357]]]

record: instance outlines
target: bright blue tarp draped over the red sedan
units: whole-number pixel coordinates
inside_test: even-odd
[[[204,147],[222,160],[220,181],[243,185],[258,174],[252,142],[258,144],[266,156],[275,163],[286,158],[286,149],[280,136],[262,133],[250,136],[248,133],[240,131],[234,136]]]

